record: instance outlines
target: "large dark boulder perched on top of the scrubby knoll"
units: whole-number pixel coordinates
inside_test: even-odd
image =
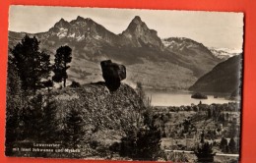
[[[126,68],[123,65],[112,63],[111,60],[100,62],[102,76],[107,88],[110,91],[115,91],[121,84],[121,81],[126,79]]]

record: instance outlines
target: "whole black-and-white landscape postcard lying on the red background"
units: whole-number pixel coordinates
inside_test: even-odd
[[[236,163],[243,13],[12,5],[9,157]]]

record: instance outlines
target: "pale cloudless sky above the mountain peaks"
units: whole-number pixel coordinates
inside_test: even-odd
[[[97,24],[118,34],[135,16],[141,17],[160,38],[187,37],[208,47],[241,50],[243,14],[173,10],[106,9],[78,7],[11,6],[9,30],[30,33],[47,31],[61,18],[70,22],[78,16],[91,18]]]

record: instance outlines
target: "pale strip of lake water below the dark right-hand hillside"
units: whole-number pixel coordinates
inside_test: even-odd
[[[195,99],[191,98],[191,92],[146,91],[145,93],[147,96],[152,97],[153,106],[181,106],[191,105],[192,103],[197,105],[200,101],[203,104],[235,102],[224,97],[214,98],[214,95],[207,95],[208,99]]]

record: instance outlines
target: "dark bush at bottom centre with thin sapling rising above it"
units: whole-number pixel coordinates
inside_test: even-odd
[[[161,156],[160,130],[155,127],[152,109],[144,105],[145,93],[141,83],[138,83],[137,93],[140,98],[140,115],[144,118],[144,126],[133,128],[127,132],[120,142],[120,156],[127,156],[133,160],[156,161]],[[144,99],[143,99],[144,98]],[[143,108],[143,109],[142,109]],[[138,126],[137,126],[138,127]]]

